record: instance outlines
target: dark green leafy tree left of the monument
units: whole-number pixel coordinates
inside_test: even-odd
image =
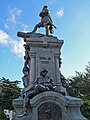
[[[0,108],[13,109],[12,100],[18,98],[21,92],[18,87],[20,81],[10,81],[4,77],[0,81]]]

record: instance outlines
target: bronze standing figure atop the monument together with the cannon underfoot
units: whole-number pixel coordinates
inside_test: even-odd
[[[48,6],[44,6],[42,11],[40,12],[39,16],[41,17],[41,22],[35,25],[34,29],[32,32],[18,32],[17,36],[23,37],[23,38],[30,38],[33,36],[32,33],[35,33],[38,28],[45,27],[46,30],[46,35],[48,36],[49,33],[53,34],[54,30],[53,28],[56,29],[56,26],[53,24],[52,18],[50,16]],[[42,37],[42,34],[36,34],[37,37]],[[24,39],[25,40],[25,39]]]

